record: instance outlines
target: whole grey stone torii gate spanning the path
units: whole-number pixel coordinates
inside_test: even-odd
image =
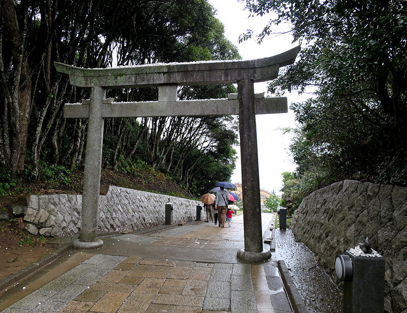
[[[287,99],[254,94],[254,82],[275,79],[280,67],[293,64],[300,47],[269,58],[153,64],[106,69],[84,69],[55,62],[70,83],[90,88],[90,100],[65,104],[64,118],[87,118],[88,134],[83,179],[81,227],[74,248],[97,248],[97,219],[102,163],[104,118],[239,115],[245,247],[239,259],[258,262],[271,253],[263,249],[258,177],[256,114],[285,113]],[[228,99],[178,101],[178,86],[237,83],[238,94]],[[158,101],[113,102],[106,89],[158,87]]]

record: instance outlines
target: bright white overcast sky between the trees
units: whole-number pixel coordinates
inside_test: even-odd
[[[290,35],[265,38],[263,43],[258,45],[255,39],[239,44],[239,35],[252,29],[255,34],[260,33],[266,25],[270,16],[248,17],[249,12],[243,11],[244,2],[238,0],[209,0],[209,3],[217,9],[217,18],[225,26],[225,37],[234,43],[244,60],[265,58],[289,50],[297,43],[292,43]],[[254,84],[256,93],[267,91],[267,82]],[[273,95],[268,95],[273,96]],[[302,99],[296,94],[286,94],[288,106],[292,102],[299,102]],[[260,188],[268,191],[275,190],[281,195],[283,172],[293,172],[296,168],[292,157],[289,154],[290,134],[283,134],[281,128],[294,127],[294,113],[268,114],[256,116],[257,129],[257,151]],[[235,147],[239,159],[236,162],[236,169],[231,177],[232,183],[242,182],[240,147]]]

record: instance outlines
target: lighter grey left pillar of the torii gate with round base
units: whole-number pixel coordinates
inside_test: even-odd
[[[83,177],[82,211],[79,239],[73,242],[75,249],[97,248],[103,241],[96,238],[100,173],[102,168],[103,118],[102,102],[106,90],[92,87],[89,105],[88,134],[86,137],[85,169]]]

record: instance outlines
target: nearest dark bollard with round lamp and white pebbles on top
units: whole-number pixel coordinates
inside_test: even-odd
[[[343,281],[343,312],[384,312],[385,259],[379,253],[359,253],[357,247],[337,255],[335,271]]]

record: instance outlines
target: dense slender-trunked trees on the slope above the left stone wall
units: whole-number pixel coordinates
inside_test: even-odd
[[[88,125],[86,119],[63,119],[63,103],[88,99],[89,91],[72,87],[67,77],[55,72],[54,61],[103,68],[115,63],[131,66],[241,58],[237,47],[224,37],[224,26],[207,1],[84,0],[59,5],[50,0],[14,2],[14,7],[5,10],[4,16],[12,18],[1,26],[4,42],[19,43],[23,50],[17,54],[30,58],[19,61],[11,44],[0,52],[5,60],[0,75],[0,96],[5,101],[0,108],[8,112],[0,121],[0,135],[9,138],[0,144],[0,162],[11,170],[13,179],[45,181],[47,188],[57,180],[78,184],[73,175],[76,168],[83,167]],[[40,14],[43,11],[47,14]],[[8,27],[16,32],[6,31],[4,25],[10,23],[15,23]],[[49,40],[50,34],[58,44]],[[21,77],[21,81],[13,77]],[[30,90],[22,94],[25,87]],[[179,96],[225,98],[235,92],[232,84],[188,86],[180,89]],[[107,93],[117,102],[157,100],[157,88]],[[14,112],[11,109],[23,109],[12,103],[19,97],[27,100],[25,111]],[[26,133],[16,128],[18,117],[23,117],[21,125],[27,118],[30,121]],[[196,129],[199,131],[194,132]],[[140,160],[197,195],[212,188],[218,176],[230,178],[236,143],[237,119],[232,117],[105,119],[102,166],[137,176]],[[25,155],[22,147],[26,147]],[[21,155],[18,162],[10,153],[13,151]],[[156,183],[160,178],[153,172],[146,179]],[[8,178],[0,182],[1,195],[11,192],[16,181]]]

